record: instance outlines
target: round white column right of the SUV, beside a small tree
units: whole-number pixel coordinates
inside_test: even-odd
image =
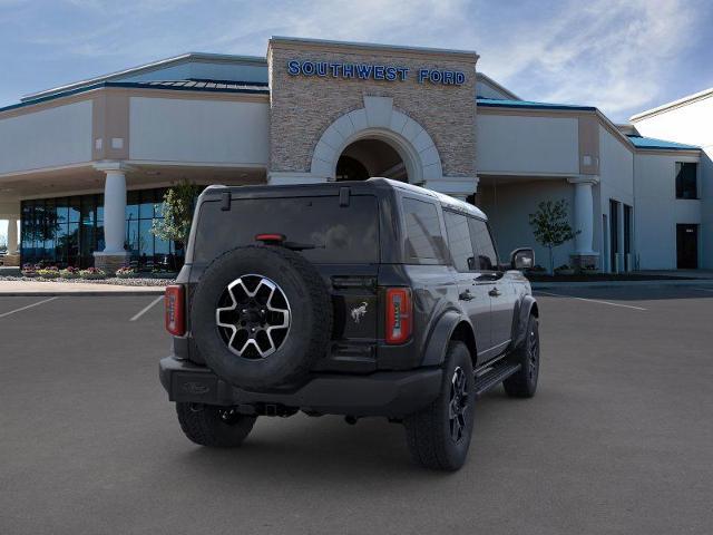
[[[599,183],[596,175],[580,175],[568,178],[575,186],[574,220],[575,252],[573,264],[577,268],[596,268],[599,253],[594,251],[594,194],[592,187]]]

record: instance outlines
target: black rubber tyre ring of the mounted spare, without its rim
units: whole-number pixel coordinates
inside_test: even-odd
[[[246,359],[232,352],[216,325],[221,295],[236,279],[257,274],[284,293],[291,312],[286,338],[273,353]],[[205,270],[192,299],[191,331],[208,367],[226,381],[248,390],[300,386],[313,363],[326,353],[332,334],[332,302],[316,268],[282,246],[244,246],[228,251]]]

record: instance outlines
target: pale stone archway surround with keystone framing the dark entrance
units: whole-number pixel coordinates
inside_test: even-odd
[[[393,109],[389,97],[364,97],[364,107],[342,115],[322,134],[314,147],[310,174],[335,179],[344,150],[359,140],[374,139],[389,145],[401,157],[411,184],[442,177],[440,155],[431,136],[408,115]]]

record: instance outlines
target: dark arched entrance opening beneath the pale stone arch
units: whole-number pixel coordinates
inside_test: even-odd
[[[403,158],[389,143],[368,137],[349,144],[336,162],[334,178],[364,181],[371,176],[409,182]]]

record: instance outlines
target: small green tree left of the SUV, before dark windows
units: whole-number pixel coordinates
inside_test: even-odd
[[[202,187],[187,179],[178,182],[164,194],[164,218],[154,220],[152,233],[166,241],[185,245],[191,233],[193,208]]]

